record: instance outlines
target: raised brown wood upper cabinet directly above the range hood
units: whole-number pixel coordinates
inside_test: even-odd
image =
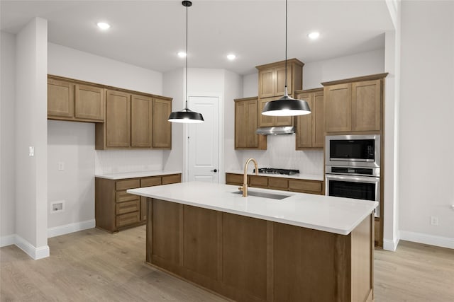
[[[287,61],[287,91],[294,95],[303,86],[304,63],[298,59]],[[293,126],[293,117],[270,117],[262,115],[267,102],[278,100],[284,95],[285,61],[256,66],[258,69],[258,127]]]

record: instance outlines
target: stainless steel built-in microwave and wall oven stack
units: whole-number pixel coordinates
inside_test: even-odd
[[[326,195],[379,202],[380,135],[334,135],[326,137]]]

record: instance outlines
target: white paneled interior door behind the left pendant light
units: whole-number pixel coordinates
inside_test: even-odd
[[[189,96],[189,108],[205,122],[188,124],[189,181],[219,182],[218,96]]]

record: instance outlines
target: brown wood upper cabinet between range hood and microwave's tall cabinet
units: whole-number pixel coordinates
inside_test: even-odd
[[[295,91],[295,98],[306,100],[311,108],[309,115],[296,117],[296,149],[323,148],[324,141],[324,110],[323,88],[306,91]]]

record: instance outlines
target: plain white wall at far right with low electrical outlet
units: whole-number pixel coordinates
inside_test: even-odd
[[[400,234],[454,248],[454,3],[402,1]],[[438,226],[431,225],[438,217]]]

